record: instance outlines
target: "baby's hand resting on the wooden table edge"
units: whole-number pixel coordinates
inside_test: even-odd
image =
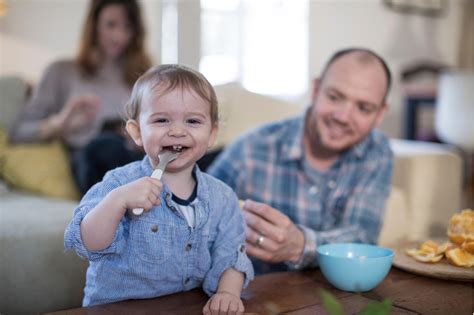
[[[204,315],[241,315],[244,313],[244,303],[237,295],[227,291],[217,292],[202,309]]]

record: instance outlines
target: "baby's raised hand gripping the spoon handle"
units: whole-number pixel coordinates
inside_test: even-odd
[[[116,189],[115,195],[124,209],[143,208],[149,211],[159,205],[163,183],[151,177],[142,177]]]

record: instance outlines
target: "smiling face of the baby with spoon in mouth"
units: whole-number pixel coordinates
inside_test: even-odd
[[[162,150],[180,152],[167,172],[194,166],[214,144],[217,127],[211,122],[210,104],[189,89],[177,88],[163,94],[158,87],[145,95],[139,116],[141,140],[153,166]]]

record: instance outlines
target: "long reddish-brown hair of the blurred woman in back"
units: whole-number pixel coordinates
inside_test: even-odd
[[[124,6],[132,27],[133,36],[122,56],[124,79],[132,86],[136,79],[151,66],[150,58],[145,52],[145,28],[136,0],[91,0],[76,60],[84,75],[93,76],[96,73],[103,61],[97,39],[99,15],[106,6],[111,4]]]

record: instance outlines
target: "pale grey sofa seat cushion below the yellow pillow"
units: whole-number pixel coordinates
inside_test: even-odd
[[[0,313],[80,307],[87,261],[64,251],[77,202],[12,191],[0,202]]]

